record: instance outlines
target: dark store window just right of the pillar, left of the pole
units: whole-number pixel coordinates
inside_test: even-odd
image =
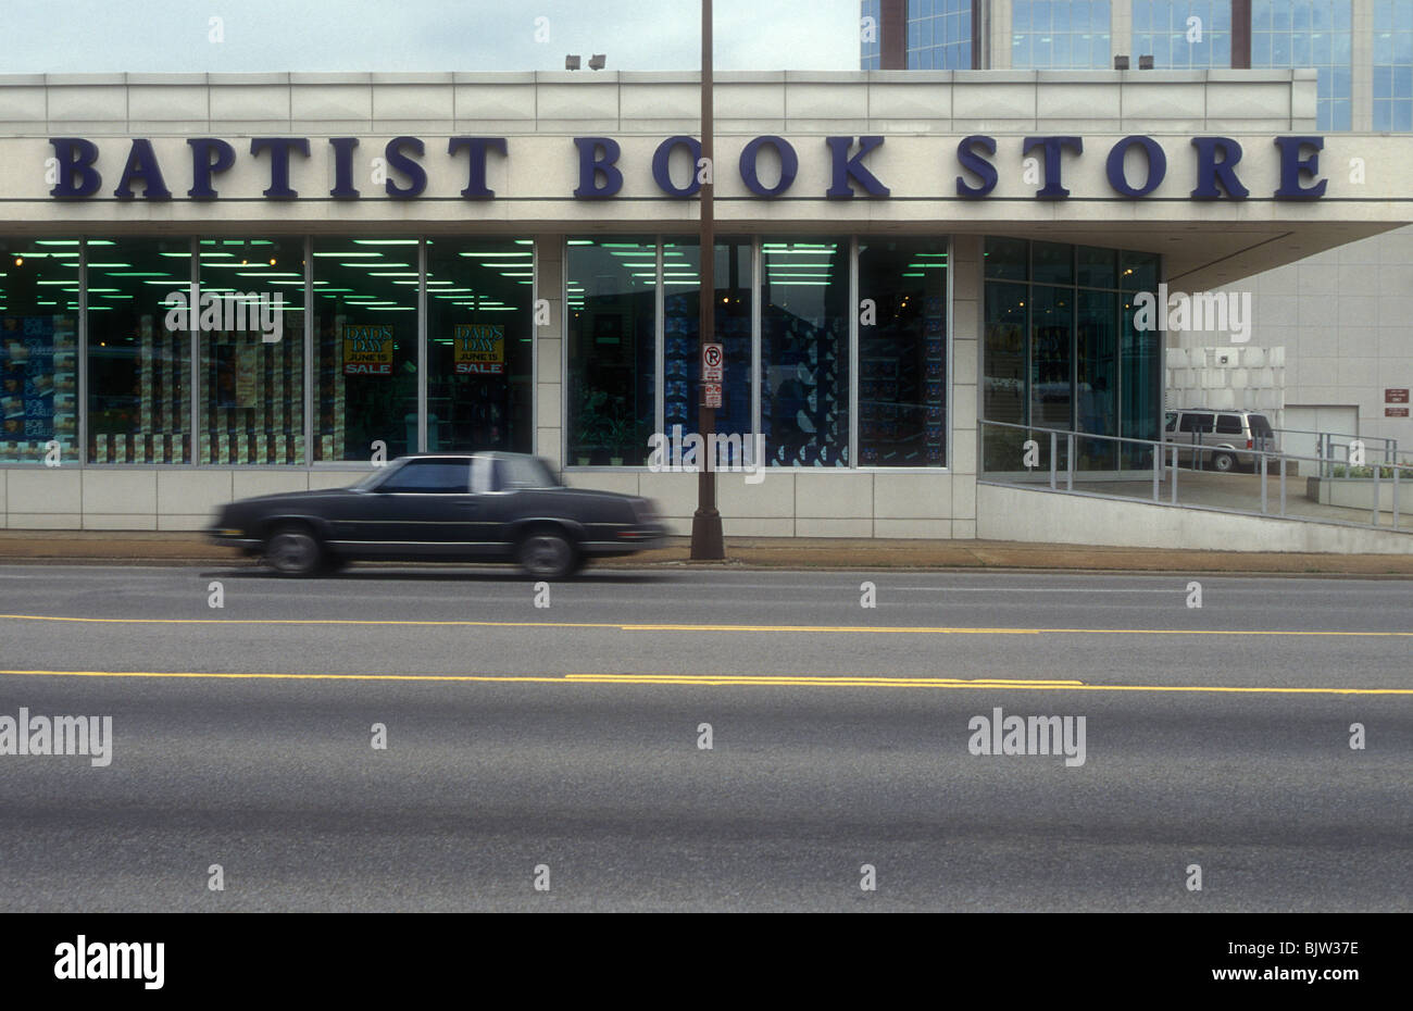
[[[657,240],[569,239],[569,465],[643,465],[654,431]]]

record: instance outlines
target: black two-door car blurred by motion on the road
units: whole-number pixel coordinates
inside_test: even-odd
[[[593,556],[654,547],[667,527],[650,499],[565,488],[538,457],[478,452],[401,457],[352,488],[240,499],[206,533],[287,575],[369,559],[516,561],[555,580]]]

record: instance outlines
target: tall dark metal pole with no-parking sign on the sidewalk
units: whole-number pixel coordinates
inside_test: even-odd
[[[712,208],[712,52],[711,52],[711,0],[702,0],[702,158],[706,177],[701,188],[701,317],[697,327],[697,362],[701,375],[702,345],[716,339],[716,233],[715,211]],[[705,383],[698,382],[701,402],[697,413],[697,430],[702,437],[699,454],[701,469],[697,472],[697,512],[692,513],[692,559],[725,559],[726,544],[721,534],[721,513],[716,512],[716,472],[712,451],[715,450],[716,409],[706,406]]]

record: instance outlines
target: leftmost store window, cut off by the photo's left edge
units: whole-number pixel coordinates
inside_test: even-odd
[[[78,239],[0,239],[0,462],[76,460],[78,280]]]

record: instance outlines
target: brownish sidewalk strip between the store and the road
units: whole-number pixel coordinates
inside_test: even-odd
[[[1184,549],[1091,547],[996,540],[728,537],[726,561],[692,563],[687,537],[595,568],[993,568],[1395,575],[1413,578],[1413,554],[1277,554]],[[256,564],[199,533],[0,530],[0,563]]]

